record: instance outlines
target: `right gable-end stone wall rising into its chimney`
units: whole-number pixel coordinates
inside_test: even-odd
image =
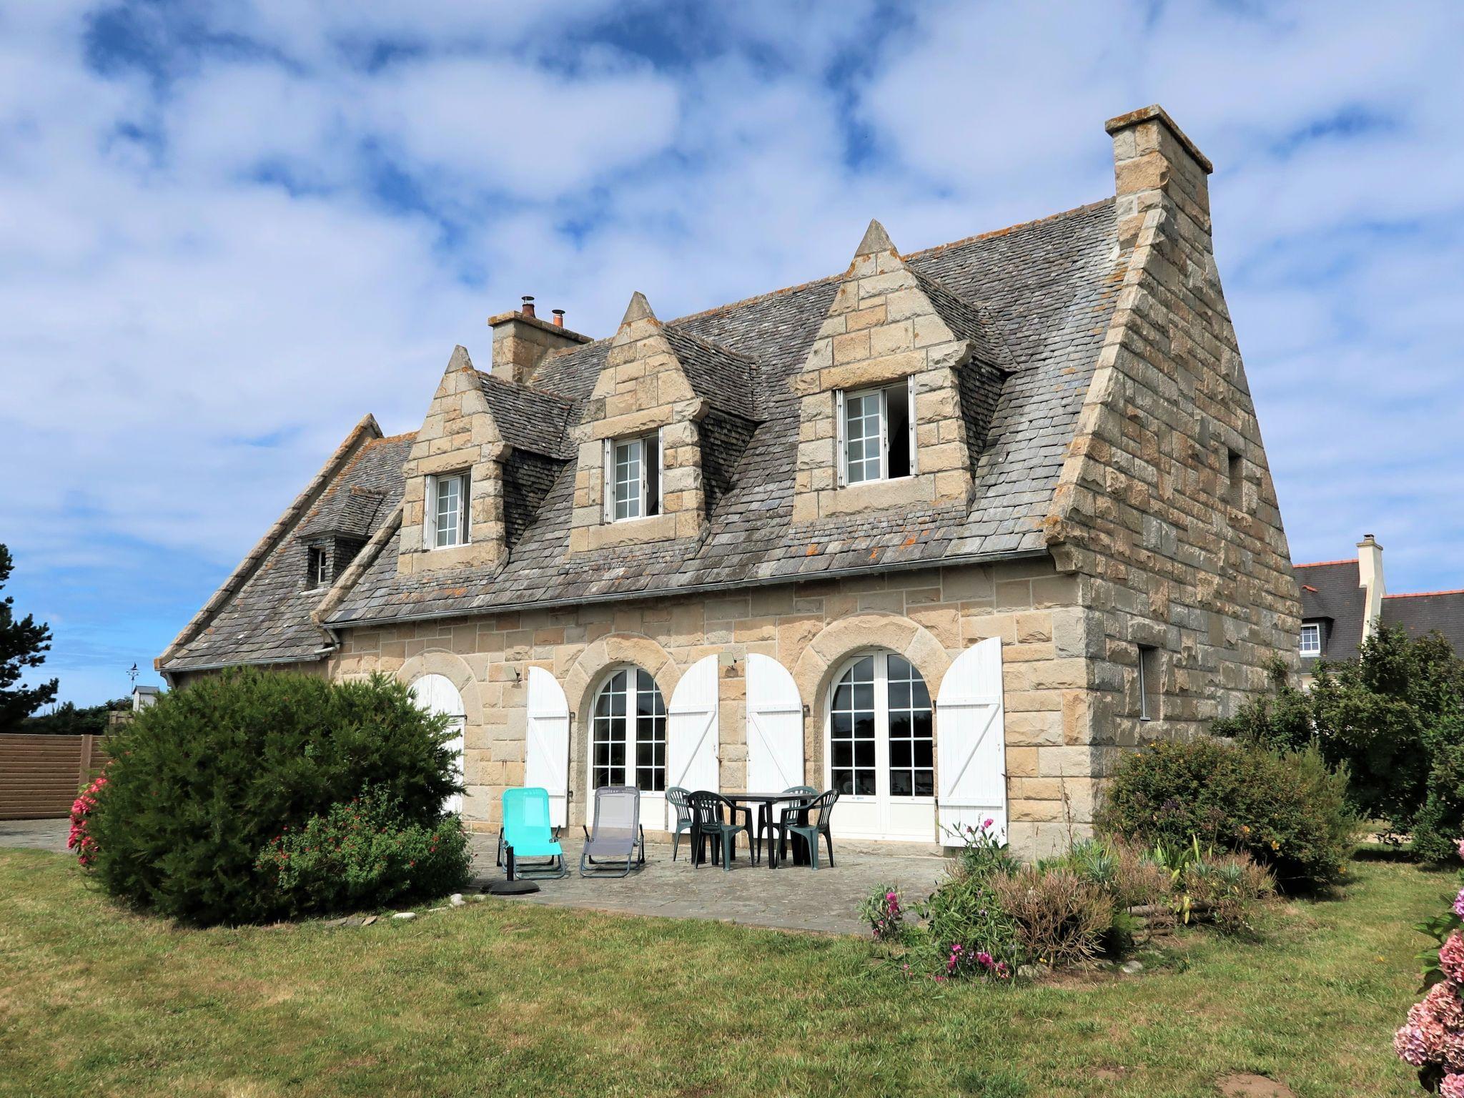
[[[1080,577],[1091,691],[1066,772],[1088,818],[1120,748],[1187,736],[1296,659],[1300,603],[1211,242],[1211,165],[1159,108],[1108,123],[1129,262],[1047,540]],[[1159,719],[1139,720],[1139,646]],[[1085,777],[1089,776],[1089,777]],[[1088,786],[1086,791],[1082,788]]]

